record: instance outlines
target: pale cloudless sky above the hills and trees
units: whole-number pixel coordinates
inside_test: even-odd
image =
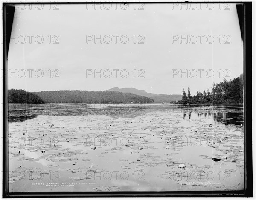
[[[9,89],[194,95],[243,73],[235,4],[54,6],[16,7]]]

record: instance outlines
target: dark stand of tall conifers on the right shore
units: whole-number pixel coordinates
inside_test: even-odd
[[[203,93],[196,92],[196,95],[191,96],[190,88],[186,93],[182,90],[183,96],[178,100],[177,104],[239,104],[243,103],[243,75],[227,81],[224,79],[221,83],[213,83],[212,91]]]

